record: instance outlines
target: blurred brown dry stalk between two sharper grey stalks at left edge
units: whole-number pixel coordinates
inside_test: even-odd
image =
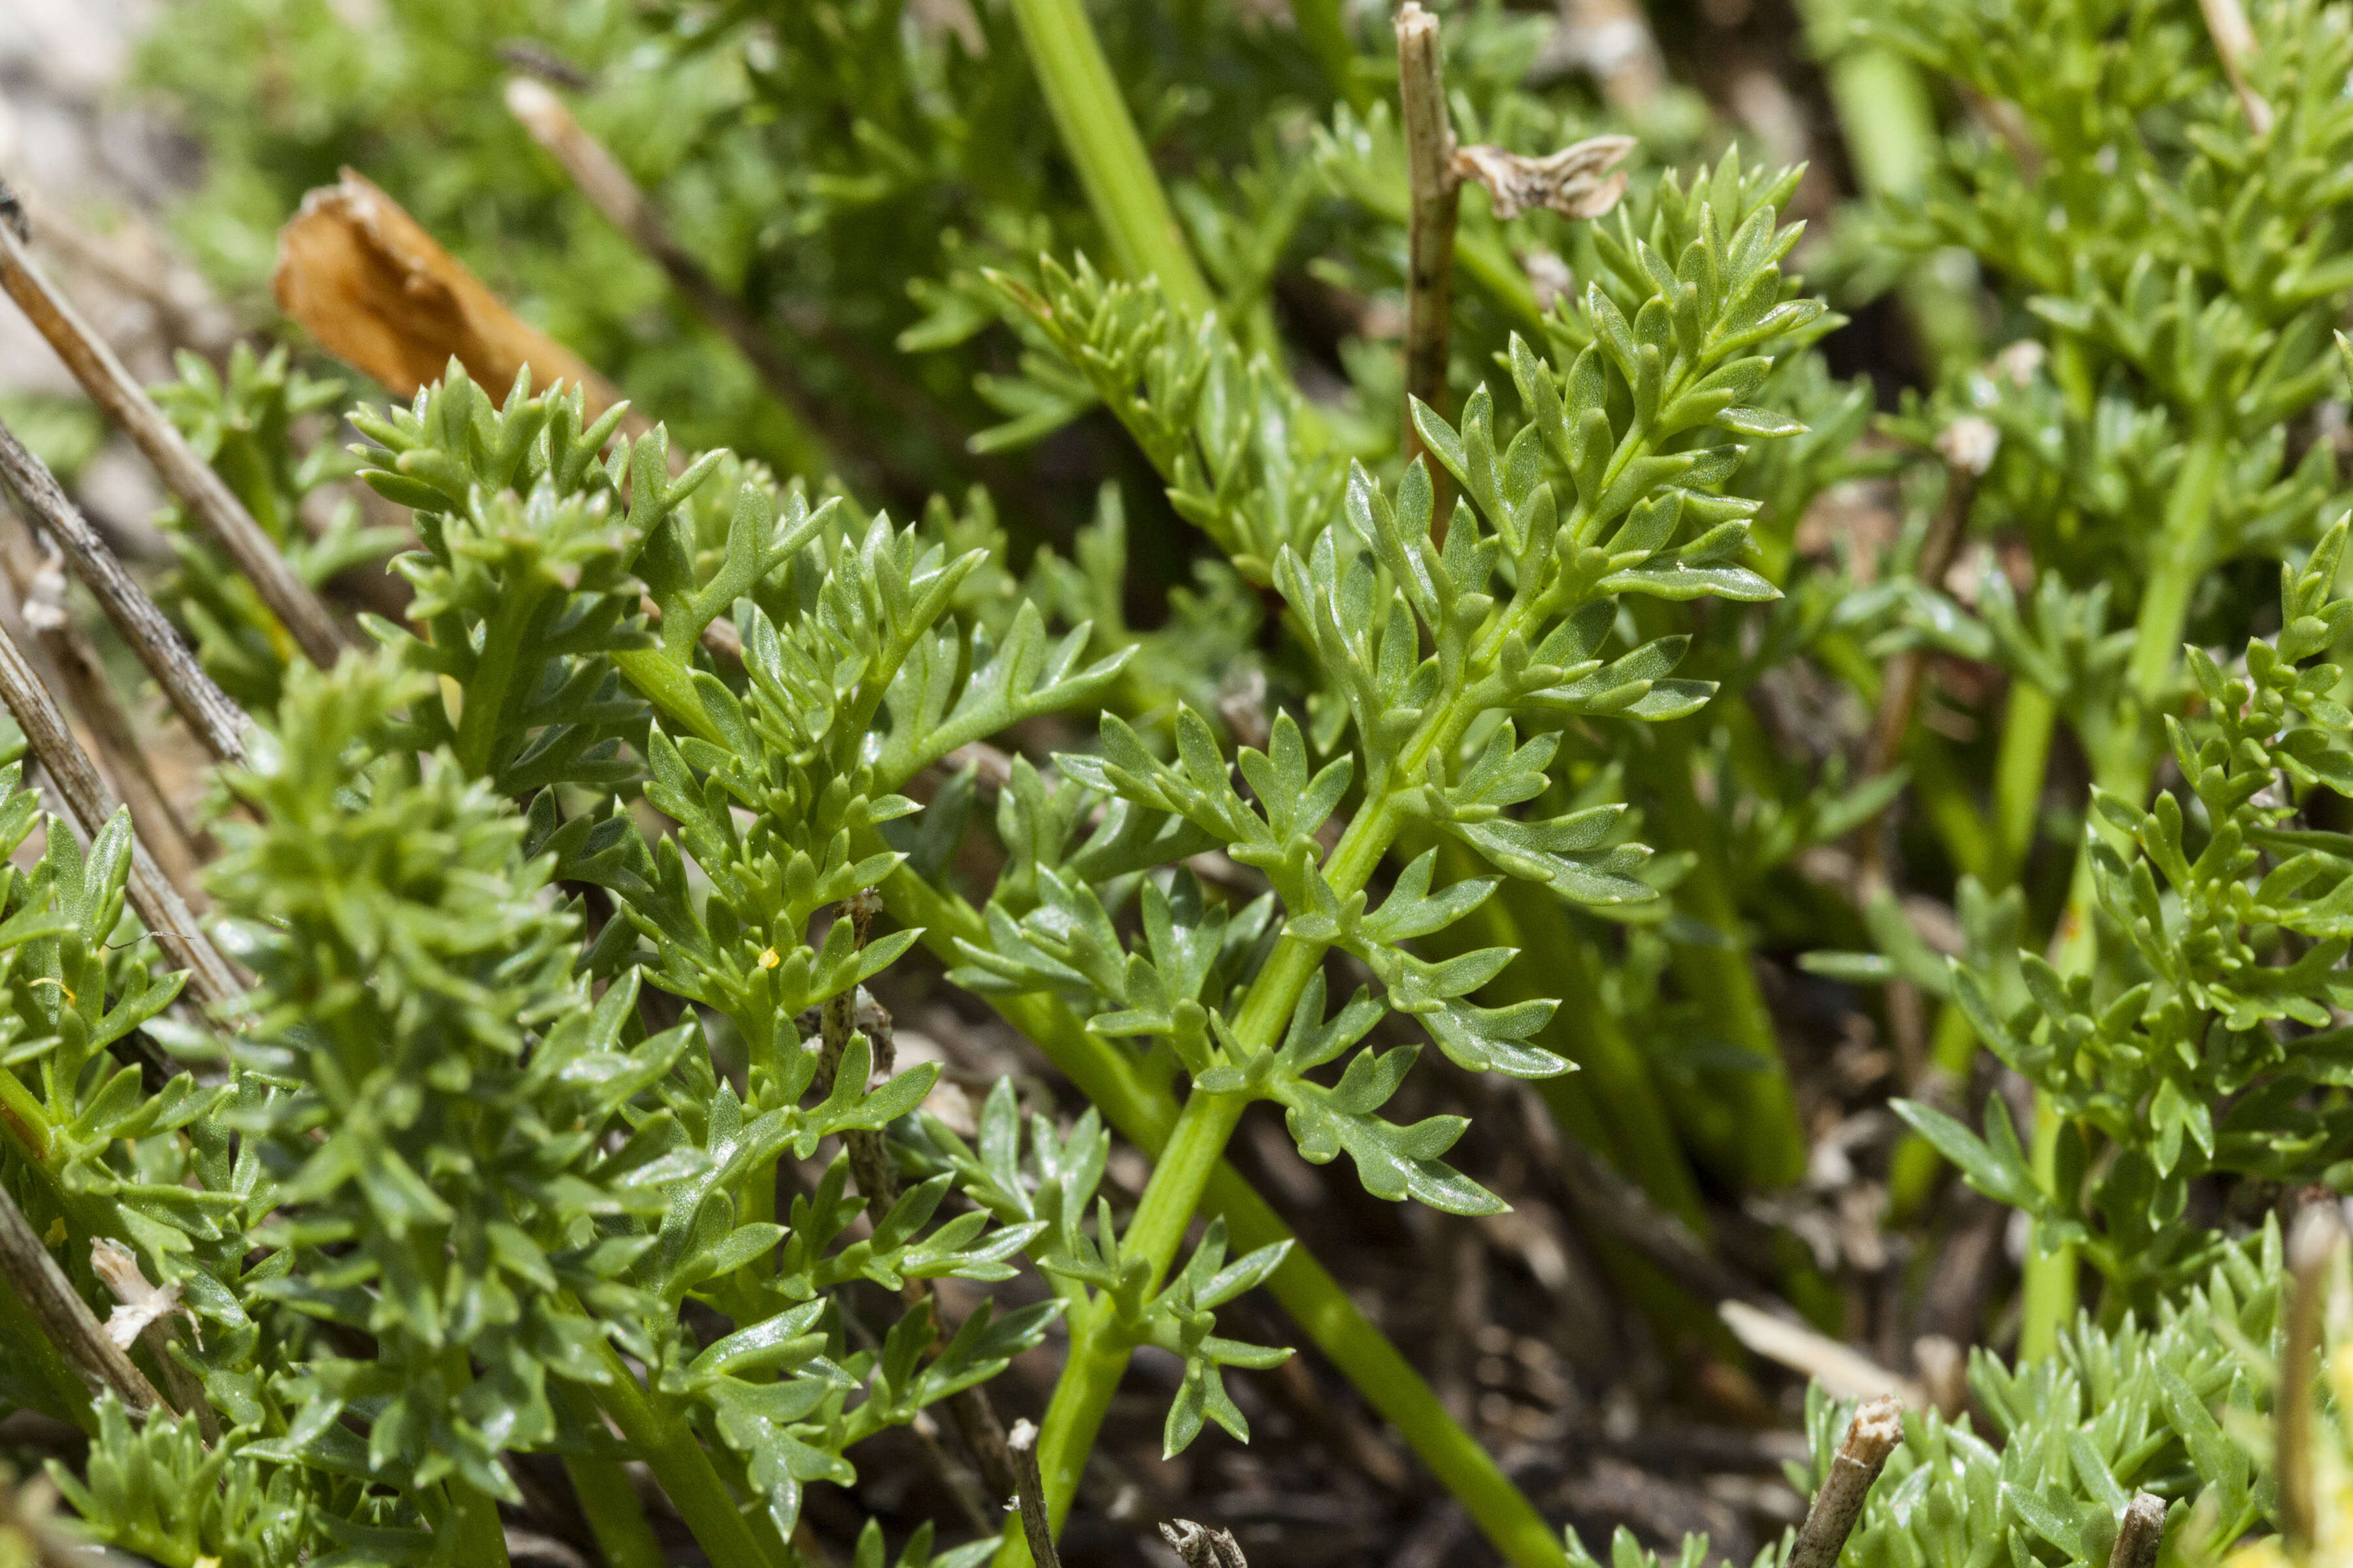
[[[49,672],[64,689],[66,710],[80,719],[96,748],[99,769],[132,809],[139,842],[155,856],[179,896],[191,907],[202,910],[198,875],[207,849],[172,806],[172,797],[165,795],[153,766],[148,766],[146,745],[141,745],[129,712],[122,710],[122,701],[106,677],[106,665],[99,663],[96,646],[68,614],[61,564],[42,559],[31,531],[7,520],[0,522],[0,574],[14,588],[21,625],[47,656]]]

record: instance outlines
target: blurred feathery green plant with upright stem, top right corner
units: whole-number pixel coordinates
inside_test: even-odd
[[[2292,451],[2287,428],[2329,393],[2329,320],[2353,282],[2341,259],[2353,209],[2325,174],[2353,136],[2334,92],[2353,45],[2322,5],[2266,7],[2259,24],[2240,59],[2167,7],[1897,2],[1859,16],[2012,106],[2007,134],[1955,136],[1918,195],[1889,200],[1880,235],[1911,252],[1967,247],[2024,310],[2033,343],[1962,376],[1929,418],[1988,418],[2002,442],[1979,520],[2017,527],[2038,574],[2106,595],[2073,616],[2129,618],[2120,663],[2014,665],[2012,705],[2024,762],[2057,715],[2075,715],[2094,783],[2132,811],[2181,696],[2184,635],[2235,639],[2259,592],[2247,567],[2308,548],[2344,503],[2329,444]],[[2042,684],[2052,677],[2071,679]],[[2035,802],[2012,792],[2009,809]],[[2031,823],[1998,832],[2031,839]],[[2059,919],[2068,978],[2118,947],[2097,936],[2097,903],[2085,853]],[[1939,1053],[1955,1067],[1969,1048],[1953,1016]],[[2057,1107],[2038,1112],[2042,1182],[2057,1180],[2061,1124]],[[2028,1345],[2049,1347],[2073,1276],[2064,1248],[2031,1269]]]

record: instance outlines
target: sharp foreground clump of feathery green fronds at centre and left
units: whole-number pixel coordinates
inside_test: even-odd
[[[986,940],[958,940],[960,976],[1014,997],[1056,992],[1096,1039],[1162,1041],[1136,1060],[1146,1079],[1165,1063],[1195,1081],[1141,1208],[1122,1225],[1099,1204],[1092,1232],[1092,1180],[1031,1197],[1005,1159],[986,1182],[965,1159],[981,1208],[929,1234],[953,1157],[892,1204],[873,1166],[845,1197],[852,1164],[875,1157],[871,1143],[859,1154],[859,1133],[929,1086],[918,1070],[868,1091],[873,1037],[847,1004],[915,931],[866,940],[859,912],[816,940],[812,919],[894,879],[901,853],[885,827],[913,811],[896,795],[906,780],[1016,719],[1099,698],[1129,654],[1085,665],[1092,630],[1049,639],[1031,607],[995,637],[958,625],[951,607],[988,555],[951,555],[934,538],[958,527],[948,515],[854,527],[838,503],[812,508],[800,489],[779,494],[720,458],[673,480],[659,433],[598,461],[609,421],[584,430],[576,395],[515,388],[494,409],[452,371],[414,409],[362,416],[379,442],[369,482],[416,508],[424,550],[405,569],[412,616],[431,632],[379,635],[442,686],[393,665],[289,675],[278,741],[231,778],[259,825],[224,827],[233,849],[219,886],[264,978],[238,1046],[247,1079],[275,1086],[247,1112],[252,1147],[282,1152],[261,1161],[282,1182],[268,1194],[282,1218],[259,1232],[271,1262],[240,1260],[233,1284],[247,1302],[372,1335],[374,1359],[336,1354],[332,1335],[205,1352],[212,1380],[256,1380],[240,1427],[285,1432],[240,1453],[358,1467],[400,1526],[431,1533],[416,1549],[471,1556],[494,1549],[489,1500],[508,1488],[496,1450],[579,1443],[581,1401],[595,1401],[715,1561],[762,1561],[779,1549],[765,1530],[791,1528],[800,1486],[847,1479],[845,1448],[984,1380],[1045,1326],[1042,1312],[1002,1324],[984,1312],[925,1361],[939,1328],[920,1302],[878,1349],[849,1354],[824,1291],[852,1276],[991,1279],[1024,1251],[1075,1316],[1073,1371],[1047,1415],[1056,1507],[1139,1342],[1186,1356],[1172,1448],[1202,1420],[1238,1429],[1217,1368],[1280,1352],[1214,1335],[1212,1312],[1271,1274],[1285,1244],[1226,1265],[1212,1227],[1165,1288],[1160,1276],[1240,1107],[1275,1098],[1311,1159],[1351,1152],[1384,1197],[1489,1211],[1497,1199],[1440,1161],[1459,1119],[1372,1114],[1412,1048],[1360,1051],[1332,1086],[1306,1074],[1391,1009],[1421,1018],[1468,1067],[1565,1067],[1527,1044],[1548,1004],[1466,1001],[1508,952],[1426,961],[1395,947],[1459,919],[1494,879],[1433,891],[1435,849],[1424,849],[1367,912],[1391,844],[1435,832],[1555,896],[1652,896],[1617,806],[1534,820],[1504,806],[1548,788],[1555,715],[1659,719],[1706,698],[1668,677],[1673,642],[1605,656],[1614,595],[1769,595],[1734,564],[1753,503],[1711,494],[1734,449],[1671,440],[1711,421],[1779,428],[1739,397],[1767,367],[1748,350],[1819,313],[1786,299],[1777,270],[1795,237],[1774,226],[1784,190],[1734,162],[1668,188],[1652,237],[1682,275],[1657,284],[1638,324],[1595,292],[1602,341],[1565,376],[1515,353],[1532,423],[1508,456],[1482,395],[1461,435],[1424,416],[1480,508],[1457,510],[1445,548],[1428,543],[1421,468],[1393,494],[1358,473],[1346,531],[1301,529],[1306,557],[1294,541],[1271,548],[1353,752],[1311,769],[1304,731],[1278,715],[1268,750],[1242,750],[1245,802],[1212,731],[1179,710],[1172,762],[1113,717],[1101,757],[1064,757],[1061,780],[1014,764],[1000,802],[1012,858],[984,905]],[[1628,240],[1628,254],[1649,254]],[[1633,400],[1619,418],[1612,386]],[[1555,501],[1548,463],[1572,501]],[[722,468],[734,494],[708,496]],[[633,623],[638,583],[661,609],[659,637]],[[734,682],[699,651],[727,607],[744,649]],[[1527,743],[1515,717],[1534,726]],[[647,802],[680,825],[675,837],[647,844],[619,813],[616,790],[638,778],[621,743],[645,757]],[[529,811],[508,804],[518,795]],[[906,853],[955,844],[958,799],[969,797],[934,799]],[[1073,844],[1106,799],[1118,806]],[[1325,853],[1313,835],[1341,804],[1351,825]],[[1273,898],[1226,910],[1191,875],[1144,875],[1212,844],[1266,875]],[[687,882],[687,860],[708,893]],[[586,950],[574,917],[534,898],[551,875],[614,900]],[[1136,950],[1111,924],[1129,898],[1144,919]],[[1369,964],[1384,1001],[1360,992],[1327,1020],[1327,950]],[[638,1025],[640,973],[727,1023],[746,1053],[741,1100],[685,1048],[692,1027]],[[609,990],[584,1011],[581,987],[605,976]],[[784,1027],[809,1006],[826,1018],[821,1053]],[[334,1135],[308,1150],[313,1128]],[[779,1225],[779,1157],[807,1157],[826,1133],[849,1150]],[[1047,1138],[1035,1168],[1052,1178],[1071,1159]],[[875,1239],[845,1244],[866,1206]],[[988,1211],[1024,1218],[984,1239]],[[687,1298],[734,1333],[713,1345],[682,1333]],[[616,1349],[645,1361],[642,1387]],[[358,1410],[365,1448],[334,1425]],[[598,1443],[586,1448],[576,1469],[600,1462]],[[769,1523],[746,1530],[732,1505],[711,1512],[729,1474],[767,1497]]]

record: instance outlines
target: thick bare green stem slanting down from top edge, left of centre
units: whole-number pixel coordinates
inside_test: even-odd
[[[1193,263],[1176,212],[1169,207],[1160,176],[1144,150],[1144,136],[1127,113],[1120,85],[1094,38],[1094,24],[1080,0],[1014,0],[1021,45],[1028,49],[1038,85],[1061,146],[1078,167],[1111,261],[1125,277],[1160,277],[1169,301],[1193,315],[1217,306],[1207,280]]]

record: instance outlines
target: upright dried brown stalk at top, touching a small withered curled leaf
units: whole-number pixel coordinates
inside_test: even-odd
[[[1445,414],[1447,331],[1454,317],[1454,223],[1461,181],[1454,174],[1454,125],[1447,115],[1438,16],[1405,0],[1398,12],[1398,99],[1405,120],[1405,461],[1421,454],[1414,404]],[[1440,527],[1445,520],[1438,520]]]

